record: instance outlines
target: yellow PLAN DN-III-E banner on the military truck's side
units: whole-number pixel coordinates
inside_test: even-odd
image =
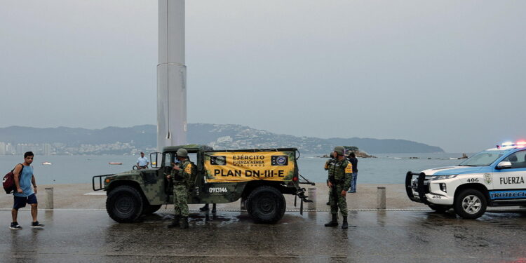
[[[294,151],[207,152],[207,182],[292,181]]]

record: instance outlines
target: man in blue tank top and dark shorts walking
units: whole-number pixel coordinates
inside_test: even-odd
[[[36,220],[38,202],[36,201],[36,181],[33,175],[33,168],[31,167],[33,158],[34,154],[32,151],[27,151],[24,154],[24,163],[15,166],[15,170],[13,170],[16,191],[13,193],[14,204],[13,210],[11,210],[13,222],[11,222],[10,229],[22,229],[17,222],[18,210],[24,208],[27,203],[31,205],[31,216],[33,217],[31,227],[43,227],[43,224],[40,224],[39,221]],[[33,188],[31,188],[31,184],[33,184]]]

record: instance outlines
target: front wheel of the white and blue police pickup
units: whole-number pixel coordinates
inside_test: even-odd
[[[454,212],[466,219],[476,219],[486,212],[485,196],[476,189],[465,189],[454,198]]]

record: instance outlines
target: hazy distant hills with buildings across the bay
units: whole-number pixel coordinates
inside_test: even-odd
[[[115,142],[126,142],[131,145],[130,147],[146,149],[156,147],[156,133],[157,128],[153,125],[130,128],[107,127],[94,130],[11,126],[0,128],[0,142],[11,144],[61,143],[66,144],[70,152],[74,147],[80,147],[81,144],[95,145]],[[370,154],[443,152],[440,147],[409,140],[295,137],[234,124],[189,123],[187,139],[189,143],[208,144],[215,149],[296,147],[302,153],[307,154],[328,154],[335,145],[356,146]]]

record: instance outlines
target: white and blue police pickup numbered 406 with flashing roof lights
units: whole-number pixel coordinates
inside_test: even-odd
[[[525,180],[526,142],[505,142],[458,166],[407,172],[405,189],[414,202],[473,219],[487,206],[526,205]]]

